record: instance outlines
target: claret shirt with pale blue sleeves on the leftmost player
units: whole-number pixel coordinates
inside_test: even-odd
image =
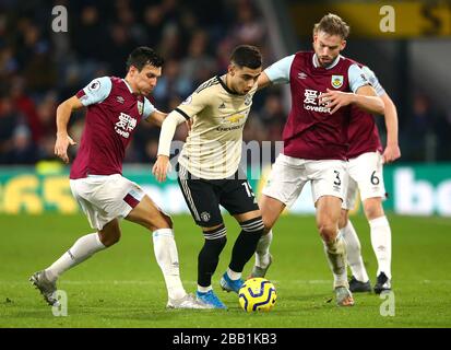
[[[126,149],[133,132],[155,107],[144,96],[133,94],[130,85],[116,77],[95,79],[76,96],[87,112],[70,178],[122,174]]]

